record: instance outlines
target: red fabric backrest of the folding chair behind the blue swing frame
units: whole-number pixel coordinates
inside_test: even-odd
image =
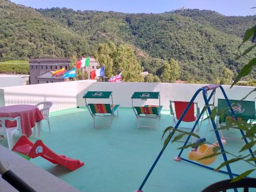
[[[174,102],[174,108],[175,108],[175,115],[176,115],[176,118],[179,120],[189,102],[187,101],[173,101],[173,102]],[[191,104],[190,108],[188,109],[182,121],[193,122],[196,120],[197,117],[195,116],[194,104],[195,103]],[[170,101],[170,106],[172,106],[172,101]]]

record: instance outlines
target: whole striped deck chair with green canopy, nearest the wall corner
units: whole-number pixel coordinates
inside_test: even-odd
[[[109,99],[111,97],[112,104],[109,103],[87,103],[87,99]],[[118,117],[119,104],[113,104],[112,92],[106,91],[88,91],[84,94],[83,98],[86,101],[86,106],[93,118],[93,127],[99,127],[95,125],[96,116],[110,117],[111,127],[114,117]]]

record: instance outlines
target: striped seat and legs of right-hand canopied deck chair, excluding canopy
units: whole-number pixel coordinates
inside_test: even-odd
[[[150,127],[157,129],[157,120],[161,118],[161,110],[163,106],[159,105],[144,105],[144,106],[134,106],[135,115],[138,120],[137,127]],[[156,125],[149,126],[149,125],[140,125],[140,118],[155,118]]]

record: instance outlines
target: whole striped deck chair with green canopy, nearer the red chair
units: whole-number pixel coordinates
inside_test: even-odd
[[[159,105],[144,105],[144,106],[134,106],[133,99],[159,99]],[[157,120],[161,118],[161,110],[163,108],[160,105],[160,94],[159,92],[134,92],[132,95],[132,108],[137,117],[137,127],[149,127],[157,129]],[[155,126],[151,125],[141,125],[140,118],[153,118],[156,119]]]

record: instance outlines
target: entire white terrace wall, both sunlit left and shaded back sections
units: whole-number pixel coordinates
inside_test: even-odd
[[[131,96],[136,91],[160,92],[161,105],[163,109],[169,109],[169,100],[189,101],[195,92],[204,86],[203,84],[181,84],[181,83],[140,83],[140,82],[88,82],[68,81],[57,83],[33,84],[30,86],[8,87],[0,89],[0,106],[12,104],[36,104],[41,101],[52,101],[51,112],[85,106],[82,96],[87,91],[112,91],[114,104],[122,107],[131,107]],[[223,86],[229,99],[242,99],[254,87]],[[216,105],[218,98],[224,98],[221,90],[216,91]],[[256,93],[252,93],[246,100],[253,100]],[[4,101],[3,101],[4,100]],[[202,92],[195,101],[200,108],[204,106]],[[95,102],[95,100],[89,100]],[[110,100],[97,100],[96,102],[108,103]],[[148,99],[146,101],[135,99],[135,105],[158,104],[158,100]]]

